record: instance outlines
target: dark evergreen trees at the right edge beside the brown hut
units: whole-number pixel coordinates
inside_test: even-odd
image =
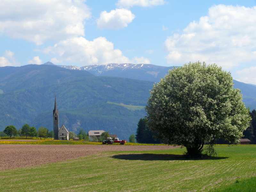
[[[250,144],[256,144],[256,110],[253,109],[252,112],[249,113],[252,120],[250,122],[250,126],[243,132],[243,139],[249,139]]]

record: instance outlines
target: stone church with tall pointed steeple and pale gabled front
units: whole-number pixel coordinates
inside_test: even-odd
[[[53,132],[54,140],[69,140],[69,132],[64,125],[59,127],[59,110],[57,109],[56,94],[55,94],[55,104],[53,109]]]

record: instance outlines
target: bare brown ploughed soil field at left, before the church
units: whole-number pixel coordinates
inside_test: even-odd
[[[20,140],[19,140],[20,141]],[[173,146],[126,145],[0,145],[0,170],[52,163],[103,151],[149,151]]]

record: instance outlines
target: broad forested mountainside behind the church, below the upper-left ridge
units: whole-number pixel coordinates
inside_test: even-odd
[[[65,124],[69,131],[103,129],[128,139],[129,134],[135,132],[138,120],[145,116],[145,111],[132,111],[107,102],[145,106],[153,85],[148,81],[96,76],[79,77],[47,86],[36,86],[36,79],[29,82],[33,88],[0,95],[1,131],[10,124],[19,129],[26,123],[52,130],[56,93],[60,124]]]

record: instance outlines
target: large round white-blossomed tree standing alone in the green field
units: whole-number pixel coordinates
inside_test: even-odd
[[[238,142],[250,122],[230,72],[215,64],[198,61],[169,70],[150,94],[149,127],[162,142],[186,147],[190,156],[201,156],[205,143],[208,154],[216,154],[216,139]]]

